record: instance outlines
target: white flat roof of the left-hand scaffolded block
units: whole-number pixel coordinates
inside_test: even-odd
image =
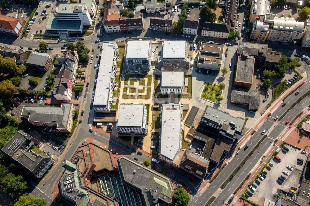
[[[150,41],[128,41],[126,58],[148,58]]]

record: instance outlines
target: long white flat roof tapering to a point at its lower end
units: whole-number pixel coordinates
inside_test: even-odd
[[[160,155],[174,160],[182,143],[181,135],[181,105],[162,105],[162,137]]]

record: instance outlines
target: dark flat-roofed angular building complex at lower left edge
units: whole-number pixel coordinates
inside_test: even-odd
[[[39,144],[40,142],[29,134],[18,131],[1,150],[31,175],[41,178],[54,161],[45,153],[38,154],[32,150]]]

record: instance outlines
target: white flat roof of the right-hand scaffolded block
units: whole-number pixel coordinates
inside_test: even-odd
[[[185,58],[186,41],[164,41],[162,58]]]

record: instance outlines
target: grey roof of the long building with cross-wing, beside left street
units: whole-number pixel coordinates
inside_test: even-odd
[[[58,123],[57,128],[67,128],[72,104],[61,104],[60,107],[24,106],[22,116],[29,116],[28,121]]]

